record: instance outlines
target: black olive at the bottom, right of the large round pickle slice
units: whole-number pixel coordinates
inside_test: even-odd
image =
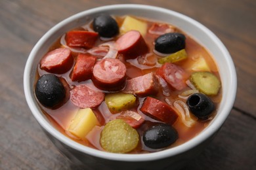
[[[176,129],[168,124],[158,124],[147,129],[142,135],[142,141],[148,148],[165,148],[178,139]]]

